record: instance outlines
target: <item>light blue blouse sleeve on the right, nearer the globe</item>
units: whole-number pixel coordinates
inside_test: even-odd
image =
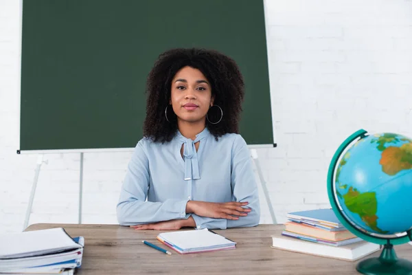
[[[246,142],[238,135],[232,148],[231,159],[231,189],[232,201],[248,201],[247,207],[251,212],[247,217],[239,217],[238,220],[212,219],[208,217],[199,217],[192,214],[196,222],[196,228],[203,229],[226,229],[236,227],[250,227],[259,224],[260,221],[260,201],[258,186],[256,185],[255,175],[249,148]]]

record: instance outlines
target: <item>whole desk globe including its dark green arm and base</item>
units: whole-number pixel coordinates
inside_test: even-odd
[[[363,274],[412,274],[393,245],[412,241],[412,139],[398,133],[347,137],[330,162],[328,196],[353,234],[383,245],[379,257],[356,265]]]

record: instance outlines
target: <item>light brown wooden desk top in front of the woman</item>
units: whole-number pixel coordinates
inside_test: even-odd
[[[217,233],[236,241],[235,250],[168,256],[141,243],[161,247],[160,232],[136,231],[119,225],[34,224],[28,230],[65,228],[71,236],[84,236],[84,255],[78,274],[358,274],[357,262],[299,254],[271,248],[272,234],[284,225],[231,228]],[[412,260],[412,246],[397,245],[399,257]],[[375,252],[371,256],[379,256]]]

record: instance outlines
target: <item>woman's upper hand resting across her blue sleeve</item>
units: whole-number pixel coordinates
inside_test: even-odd
[[[224,203],[187,201],[186,213],[194,213],[201,217],[214,219],[239,219],[239,217],[245,217],[248,212],[251,212],[251,208],[242,208],[242,206],[247,206],[247,204],[247,201],[231,201]]]

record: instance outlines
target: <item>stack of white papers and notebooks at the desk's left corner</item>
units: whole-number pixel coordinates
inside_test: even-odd
[[[73,274],[82,265],[84,238],[63,228],[0,234],[0,274]]]

